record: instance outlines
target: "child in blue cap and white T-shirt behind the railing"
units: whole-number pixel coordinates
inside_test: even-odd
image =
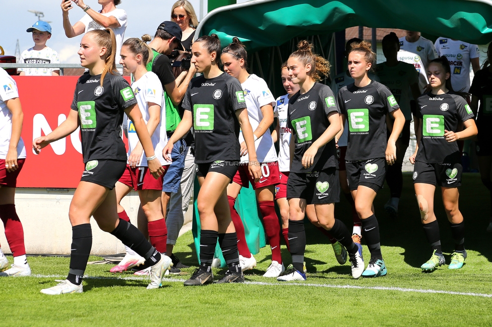
[[[60,63],[58,52],[46,46],[46,41],[51,37],[51,26],[44,21],[37,21],[27,29],[32,32],[34,46],[24,50],[19,58],[19,63]],[[58,76],[59,68],[19,68],[20,75],[28,76]]]

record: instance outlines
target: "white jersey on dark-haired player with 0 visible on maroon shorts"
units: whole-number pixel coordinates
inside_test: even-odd
[[[261,107],[272,105],[272,107],[275,108],[275,98],[268,89],[265,81],[255,74],[251,74],[244,83],[241,83],[241,87],[244,93],[244,100],[246,101],[251,128],[254,132],[260,124],[260,121],[263,119]],[[269,127],[270,126],[268,126],[265,133],[255,141],[256,156],[259,162],[273,162],[278,160]],[[239,133],[239,143],[242,143],[243,141],[244,137],[241,132]],[[241,156],[241,162],[248,161],[248,154]]]

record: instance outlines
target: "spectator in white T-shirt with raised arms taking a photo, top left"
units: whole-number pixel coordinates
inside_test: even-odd
[[[127,13],[116,6],[121,0],[97,0],[102,5],[100,11],[91,9],[83,0],[75,0],[74,3],[80,7],[86,15],[73,26],[69,20],[69,10],[73,8],[72,1],[61,0],[61,10],[63,11],[63,28],[68,38],[73,38],[92,30],[103,30],[110,28],[116,37],[116,56],[119,56],[121,44],[127,29]]]

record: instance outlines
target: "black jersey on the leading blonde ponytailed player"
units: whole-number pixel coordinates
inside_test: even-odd
[[[137,103],[132,88],[121,75],[84,73],[75,87],[72,109],[79,113],[82,155],[89,160],[127,160],[121,138],[124,110]]]

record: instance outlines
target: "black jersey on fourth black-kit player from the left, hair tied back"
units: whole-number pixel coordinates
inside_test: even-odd
[[[345,160],[384,158],[386,115],[400,108],[391,91],[375,80],[363,88],[352,83],[340,89],[337,103],[348,122]]]

